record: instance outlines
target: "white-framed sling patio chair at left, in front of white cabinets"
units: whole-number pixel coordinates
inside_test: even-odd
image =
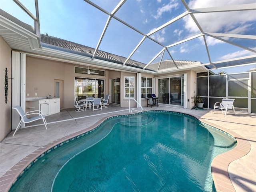
[[[45,120],[45,117],[44,117],[44,114],[42,111],[39,111],[39,110],[35,110],[35,111],[29,111],[29,112],[24,112],[24,110],[20,107],[20,106],[15,106],[13,107],[13,109],[15,109],[18,114],[20,115],[21,119],[20,119],[20,122],[16,128],[16,130],[14,131],[14,134],[12,136],[15,135],[16,131],[19,130],[20,126],[21,126],[21,123],[24,122],[24,123],[30,123],[30,122],[33,122],[33,121],[36,121],[36,120],[39,120],[39,119],[42,119],[43,122],[44,122],[44,126],[45,128],[47,129],[46,125],[47,125],[47,122]],[[38,116],[36,117],[32,117],[32,118],[28,118],[27,116],[29,115],[32,115],[32,114],[38,114]]]

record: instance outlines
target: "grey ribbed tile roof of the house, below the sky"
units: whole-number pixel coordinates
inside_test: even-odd
[[[84,46],[81,44],[77,44],[77,43],[74,43],[74,42],[71,42],[68,40],[52,37],[52,36],[49,36],[48,34],[46,34],[46,35],[41,34],[41,42],[42,42],[42,46],[47,46],[46,44],[48,44],[48,45],[56,46],[56,48],[57,47],[64,48],[64,49],[66,49],[65,51],[67,51],[67,52],[69,52],[68,50],[70,50],[76,54],[83,53],[89,57],[92,57],[92,55],[94,54],[94,51],[95,51],[94,48]],[[125,57],[111,54],[108,52],[104,52],[101,50],[97,50],[95,58],[118,63],[118,64],[123,64],[126,60]],[[177,66],[184,66],[184,65],[188,65],[188,64],[194,64],[195,61],[177,60],[177,61],[175,61],[175,63]],[[144,68],[146,66],[146,64],[129,59],[128,62],[126,62],[126,66],[132,66],[132,67],[136,67],[136,68]],[[159,62],[152,63],[146,68],[146,70],[157,71],[158,66],[159,66]],[[168,68],[176,68],[174,62],[172,60],[162,61],[159,70],[168,69]]]

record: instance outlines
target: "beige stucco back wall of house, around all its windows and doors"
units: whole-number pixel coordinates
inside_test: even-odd
[[[63,108],[73,108],[74,107],[74,77],[86,77],[86,78],[98,78],[105,80],[105,95],[111,95],[111,80],[114,78],[120,78],[120,106],[128,107],[129,102],[124,98],[124,78],[125,76],[134,76],[135,82],[137,81],[137,73],[133,72],[120,72],[113,70],[105,70],[105,76],[88,75],[88,74],[75,74],[74,66],[81,66],[78,64],[72,64],[68,62],[48,60],[45,58],[36,58],[33,56],[26,57],[26,97],[45,97],[55,95],[55,81],[63,81]],[[101,68],[93,67],[94,69],[102,70]],[[187,106],[192,108],[191,97],[194,96],[196,92],[196,72],[192,70],[187,70],[183,72],[175,72],[164,74],[164,76],[172,76],[175,74],[187,74],[187,92],[188,99]],[[163,75],[151,75],[142,74],[142,77],[148,78],[159,78]],[[153,85],[153,89],[154,89]],[[28,94],[28,96],[27,96]],[[37,94],[37,95],[36,95]],[[135,83],[135,99],[137,95],[137,84]],[[111,98],[110,98],[111,102]],[[147,100],[142,98],[142,107],[147,106]],[[130,102],[130,107],[136,107],[134,101]]]

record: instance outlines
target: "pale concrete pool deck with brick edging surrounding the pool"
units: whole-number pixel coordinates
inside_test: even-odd
[[[212,177],[217,192],[256,192],[256,115],[242,112],[191,110],[170,106],[144,107],[143,110],[182,112],[211,126],[224,130],[237,140],[238,145],[212,161]],[[112,105],[103,110],[75,112],[61,110],[46,116],[44,125],[12,131],[0,143],[0,192],[7,192],[16,177],[42,152],[52,146],[87,132],[110,116],[130,114],[127,108]],[[63,121],[64,120],[64,121]],[[38,121],[41,123],[40,121]],[[37,123],[38,123],[37,122]]]

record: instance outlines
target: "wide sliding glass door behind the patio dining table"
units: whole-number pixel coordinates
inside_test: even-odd
[[[104,80],[75,77],[75,96],[85,99],[89,96],[104,97]]]

